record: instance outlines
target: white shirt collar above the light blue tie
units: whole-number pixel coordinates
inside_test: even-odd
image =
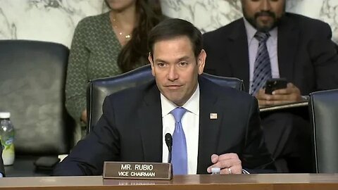
[[[161,106],[162,106],[162,118],[165,115],[170,114],[170,112],[173,109],[178,107],[175,103],[165,98],[165,96],[163,96],[162,93],[161,93]],[[186,103],[184,103],[182,108],[185,108],[186,110],[188,110],[191,113],[194,113],[195,115],[199,115],[199,84],[197,84],[194,94],[192,94],[190,99]]]

